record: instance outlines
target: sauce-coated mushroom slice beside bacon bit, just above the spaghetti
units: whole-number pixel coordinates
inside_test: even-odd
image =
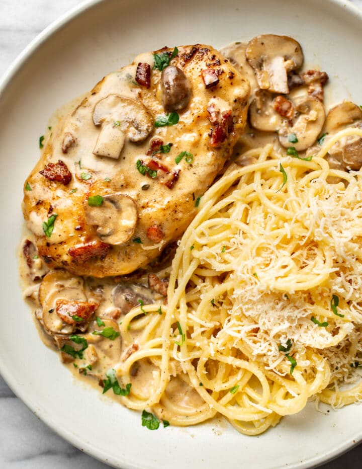
[[[297,151],[303,151],[312,146],[320,134],[325,111],[323,104],[312,96],[299,97],[294,101],[296,114],[292,121],[284,120],[279,130],[279,141],[288,148],[294,146]],[[295,134],[298,141],[291,144],[289,136]]]

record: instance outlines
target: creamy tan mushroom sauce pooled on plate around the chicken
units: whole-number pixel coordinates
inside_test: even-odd
[[[358,127],[362,126],[362,111],[360,107],[353,103],[345,101],[340,105],[336,105],[329,112],[329,114],[324,112],[324,107],[322,104],[322,87],[325,84],[326,77],[324,75],[318,74],[320,73],[319,71],[312,70],[312,72],[315,72],[314,75],[317,77],[317,79],[314,81],[309,81],[309,72],[304,75],[300,70],[297,69],[296,71],[292,72],[292,75],[289,75],[288,82],[291,89],[288,95],[269,93],[269,91],[267,91],[267,75],[262,75],[264,85],[266,83],[264,86],[264,92],[266,94],[269,93],[267,99],[269,99],[270,103],[273,104],[269,103],[270,106],[265,114],[262,114],[260,109],[256,109],[254,120],[257,120],[259,117],[264,119],[264,122],[260,124],[260,127],[265,127],[265,121],[267,120],[268,122],[266,123],[266,126],[269,126],[269,131],[263,131],[253,127],[250,123],[250,113],[252,114],[254,112],[253,106],[257,106],[260,90],[258,89],[258,80],[256,79],[255,72],[245,58],[246,50],[247,44],[239,42],[233,43],[221,50],[221,53],[227,57],[245,77],[247,77],[251,86],[249,99],[249,121],[245,128],[244,134],[238,139],[234,147],[234,153],[232,157],[232,160],[234,160],[240,166],[245,166],[253,162],[250,159],[243,159],[243,152],[251,148],[264,146],[266,143],[273,143],[281,151],[291,151],[291,153],[288,154],[297,155],[300,158],[308,158],[320,148],[320,144],[323,139],[331,138],[331,135],[333,135],[333,133],[337,132],[341,128],[349,125],[356,125]],[[149,61],[150,58],[144,58],[144,61],[147,60]],[[298,60],[298,63],[300,64],[300,56]],[[273,59],[272,62],[273,67],[281,66],[282,63],[280,59]],[[134,74],[135,70],[133,68],[130,68],[129,71],[126,70],[124,76],[125,83],[127,80],[129,80],[129,72],[132,71]],[[293,67],[291,67],[290,70],[293,70]],[[310,72],[309,75],[313,74],[312,72]],[[284,73],[284,75],[286,76],[286,73]],[[278,76],[282,76],[283,79],[283,73],[280,73],[279,75],[277,74],[277,79]],[[116,75],[114,75],[114,78],[116,78]],[[109,75],[109,80],[112,79],[113,77],[111,74]],[[119,76],[117,76],[117,80],[118,79]],[[323,83],[321,84],[321,82]],[[313,85],[316,83],[317,85]],[[273,86],[277,86],[275,80],[273,81]],[[284,89],[286,86],[286,83],[284,83]],[[130,97],[134,97],[133,93],[134,90],[129,90],[128,86],[124,87],[125,96],[129,95]],[[282,103],[282,109],[278,107],[278,103],[276,104],[278,97],[281,98],[280,101]],[[310,109],[307,111],[303,109],[296,109],[295,102],[298,102],[298,100],[303,101],[306,98],[309,99],[308,97],[312,97],[312,101],[318,100],[319,104],[317,103],[316,106],[317,111],[314,112],[312,110],[313,112],[307,115],[307,119],[302,123],[300,128],[295,129],[293,125],[295,124],[296,120],[300,119],[300,116],[303,115],[304,112],[308,113],[310,111]],[[285,101],[283,102],[284,99]],[[288,101],[288,103],[286,103],[286,101]],[[74,103],[74,101],[72,103]],[[283,105],[285,106],[284,108]],[[294,115],[292,112],[290,115],[288,115],[291,107]],[[276,112],[276,109],[279,112]],[[320,114],[318,114],[318,112]],[[326,119],[325,114],[327,114]],[[55,120],[56,119],[53,118],[51,122],[54,122]],[[251,117],[251,120],[253,120],[253,117]],[[316,124],[317,121],[318,125]],[[74,123],[74,125],[76,125],[76,123]],[[316,128],[313,127],[315,125]],[[284,130],[282,132],[283,138],[281,139],[280,128],[282,127]],[[310,127],[312,127],[312,129]],[[286,133],[286,129],[288,128],[291,131]],[[303,149],[300,151],[295,150],[297,142],[293,141],[296,140],[297,131],[301,132],[301,136],[305,137],[308,142],[311,141],[311,143],[309,143],[305,148],[302,145]],[[303,132],[309,132],[310,134],[306,136],[303,135]],[[87,136],[84,136],[84,138],[87,138]],[[288,143],[286,143],[286,138]],[[298,139],[298,141],[299,140],[300,139]],[[362,139],[359,137],[345,137],[343,142],[338,142],[338,144],[335,144],[333,147],[334,151],[331,151],[327,157],[329,159],[330,165],[345,171],[350,169],[359,169],[362,165],[361,140]],[[293,154],[293,150],[288,150],[288,148],[294,148],[296,154]],[[63,159],[65,162],[67,162],[66,155]],[[93,156],[92,159],[94,159]],[[71,162],[69,162],[69,164],[70,163]],[[87,161],[87,156],[85,154],[84,157],[82,157],[82,164],[84,167],[91,165],[91,162]],[[98,160],[97,171],[101,172],[104,177],[107,177],[112,174],[114,164],[114,160],[112,159],[100,159]],[[44,190],[44,188],[37,189],[34,187],[32,190],[34,190],[33,195],[36,195],[35,192],[37,190]],[[35,217],[36,215],[32,216]],[[40,220],[31,218],[28,226],[31,227],[33,232],[25,229],[24,240],[21,244],[20,273],[23,282],[24,297],[30,300],[32,308],[35,308],[35,318],[38,320],[36,322],[41,325],[39,330],[47,346],[52,347],[54,350],[59,350],[63,348],[64,345],[71,344],[73,349],[79,351],[81,349],[81,344],[77,346],[75,343],[69,342],[69,333],[72,332],[78,337],[86,339],[88,346],[83,352],[80,353],[82,358],[79,358],[79,353],[77,354],[78,356],[74,358],[71,354],[63,351],[60,352],[61,359],[76,375],[80,374],[81,376],[86,375],[87,377],[95,378],[94,382],[103,386],[106,372],[114,368],[117,363],[124,360],[128,354],[131,354],[137,350],[137,346],[134,346],[134,348],[133,346],[124,347],[121,337],[119,336],[112,340],[101,335],[94,335],[93,332],[100,332],[103,330],[103,328],[112,328],[115,331],[115,334],[118,335],[119,324],[122,323],[123,316],[131,308],[132,301],[135,305],[139,305],[138,300],[141,300],[141,304],[156,302],[159,305],[162,305],[166,304],[166,297],[149,288],[148,275],[150,272],[152,272],[152,269],[145,272],[138,279],[131,281],[124,281],[122,278],[117,277],[76,277],[72,276],[72,274],[64,273],[65,277],[67,275],[69,275],[69,277],[73,277],[69,279],[70,283],[73,282],[72,285],[69,284],[67,287],[66,283],[68,280],[64,281],[65,277],[62,277],[63,281],[60,281],[60,283],[56,283],[50,278],[50,284],[47,286],[47,288],[43,288],[43,290],[46,291],[42,293],[42,288],[40,286],[42,283],[44,284],[45,281],[42,279],[44,279],[44,276],[48,273],[49,269],[44,260],[37,256],[35,247],[36,243],[34,239],[34,233],[42,235],[42,232],[40,232],[42,229],[41,224],[42,223]],[[162,266],[161,270],[153,270],[153,273],[155,273],[159,279],[167,279],[170,271],[170,261],[171,259],[169,259],[168,265],[166,267]],[[76,278],[78,280],[76,280]],[[47,279],[47,277],[45,277],[45,279]],[[44,306],[44,304],[41,304],[42,297],[44,297],[43,303],[45,302],[46,304],[51,304],[52,298],[49,299],[49,295],[51,289],[55,288],[56,293],[54,297],[59,294],[59,291],[62,291],[63,297],[66,298],[67,294],[64,293],[64,285],[65,289],[78,288],[79,285],[76,285],[76,282],[81,285],[80,290],[82,292],[82,294],[80,294],[79,298],[77,299],[79,301],[93,303],[96,308],[95,312],[91,311],[91,320],[89,324],[86,322],[83,329],[81,327],[77,328],[76,324],[68,324],[64,326],[63,323],[63,325],[60,326],[61,321],[58,319],[57,321],[59,324],[57,325],[55,324],[57,321],[49,319],[51,317],[54,318],[56,315],[56,312],[51,310],[52,308],[50,308],[50,311],[48,311],[47,319],[45,320],[45,317],[42,313],[42,306]],[[124,291],[129,293],[128,297],[127,294],[123,294]],[[73,293],[74,290],[72,294],[68,295],[69,299],[75,299]],[[131,300],[130,297],[132,297]],[[129,307],[127,306],[128,300],[130,300],[128,305]],[[100,321],[100,323],[97,322],[96,318],[99,318],[98,321]],[[100,326],[100,324],[102,324],[102,326]],[[55,329],[59,327],[58,333],[55,331],[51,331],[52,335],[45,333],[44,330],[47,329],[47,326],[54,327]],[[61,329],[61,327],[63,327],[63,329]],[[134,340],[134,344],[137,344],[137,337],[140,333],[138,331],[130,331],[130,334]],[[151,379],[152,372],[154,370],[154,365],[152,365],[147,359],[139,360],[137,362],[137,366],[134,366],[134,368],[131,370],[132,391],[144,397],[144,394],[147,392],[147,386],[145,384]],[[175,370],[173,374],[176,374]],[[113,393],[108,394],[117,399],[117,396],[115,396]],[[170,383],[166,389],[166,394],[168,399],[175,401],[178,404],[182,404],[185,409],[194,409],[198,405],[202,404],[201,398],[195,392],[195,390],[193,390],[180,378],[171,378]]]

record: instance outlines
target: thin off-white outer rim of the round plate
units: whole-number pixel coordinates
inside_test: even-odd
[[[11,84],[12,80],[16,77],[17,73],[21,68],[32,58],[32,55],[43,45],[45,44],[54,34],[56,34],[61,28],[66,26],[68,23],[82,15],[88,10],[96,8],[97,5],[108,2],[109,0],[83,0],[75,7],[71,8],[59,18],[52,21],[44,30],[42,30],[32,41],[20,52],[20,54],[15,58],[15,60],[10,64],[10,66],[5,70],[2,76],[0,76],[0,99],[6,95],[7,87]],[[362,8],[358,7],[356,4],[352,3],[350,0],[319,0],[319,2],[324,2],[324,4],[334,5],[340,9],[344,9],[347,12],[351,13],[353,16],[357,17],[361,22],[362,26]],[[362,34],[362,33],[361,33]],[[10,369],[3,362],[2,357],[0,356],[0,375],[3,377],[4,381],[10,387],[12,392],[30,409],[30,411],[36,415],[45,425],[47,425],[54,433],[59,435],[61,438],[66,440],[71,445],[75,446],[80,451],[88,454],[95,459],[103,462],[104,464],[113,466],[113,467],[123,467],[123,469],[139,469],[139,465],[132,462],[132,460],[109,460],[107,454],[102,450],[102,448],[94,447],[91,443],[86,442],[78,437],[77,435],[67,431],[66,428],[59,428],[56,421],[52,418],[51,414],[43,415],[42,412],[39,412],[36,409],[36,404],[32,402],[32,399],[26,396],[26,393],[22,391],[22,388],[18,388],[16,384],[15,376],[12,375]],[[335,446],[335,448],[330,451],[328,454],[319,454],[310,456],[307,460],[298,463],[290,463],[288,466],[291,469],[311,469],[317,467],[320,464],[327,463],[336,457],[346,453],[353,447],[362,443],[362,430],[360,433],[352,438],[351,440],[344,441],[343,443]],[[122,465],[121,465],[122,464]]]

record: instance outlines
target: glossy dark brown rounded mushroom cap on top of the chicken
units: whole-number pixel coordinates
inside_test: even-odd
[[[161,73],[162,104],[167,112],[185,109],[191,98],[188,77],[178,67],[168,65]]]

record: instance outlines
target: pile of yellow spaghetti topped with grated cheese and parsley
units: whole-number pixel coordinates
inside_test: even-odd
[[[311,397],[362,399],[362,175],[324,160],[350,135],[362,130],[338,132],[310,161],[251,149],[254,164],[231,164],[208,190],[173,260],[168,305],[122,322],[124,347],[136,337],[139,350],[117,375],[132,382],[135,363],[151,363],[147,387],[123,404],[173,425],[219,413],[255,435]]]

